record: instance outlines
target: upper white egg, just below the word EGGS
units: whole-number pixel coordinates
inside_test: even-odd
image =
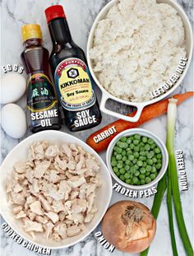
[[[25,77],[17,72],[10,72],[1,78],[1,104],[19,100],[25,93]]]

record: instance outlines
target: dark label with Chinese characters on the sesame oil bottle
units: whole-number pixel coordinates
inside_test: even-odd
[[[32,127],[58,123],[58,101],[53,84],[43,73],[35,73],[27,82],[27,110]]]

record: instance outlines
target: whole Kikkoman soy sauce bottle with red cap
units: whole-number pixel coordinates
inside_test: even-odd
[[[102,117],[85,54],[72,40],[62,6],[48,7],[45,14],[53,41],[50,65],[67,127],[73,132],[95,127]]]

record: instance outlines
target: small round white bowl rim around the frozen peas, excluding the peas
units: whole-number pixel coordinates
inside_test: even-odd
[[[157,175],[157,177],[154,180],[152,180],[149,184],[145,184],[145,185],[126,184],[121,179],[119,179],[117,175],[115,175],[115,173],[113,172],[111,163],[110,163],[111,156],[113,154],[113,147],[118,142],[118,140],[123,136],[128,137],[128,136],[132,136],[133,134],[140,134],[140,135],[152,138],[155,141],[156,145],[161,149],[161,152],[162,152],[163,159],[162,159],[161,170],[159,170],[159,174]],[[155,184],[157,184],[159,182],[160,179],[162,179],[162,177],[164,176],[164,174],[167,170],[168,164],[169,164],[169,154],[168,154],[168,151],[167,151],[164,143],[154,133],[150,133],[146,129],[132,128],[132,129],[128,129],[122,133],[119,133],[116,137],[113,138],[112,142],[110,142],[107,153],[106,153],[106,163],[107,163],[107,166],[109,168],[111,175],[113,176],[113,179],[115,179],[118,182],[118,184],[121,184],[122,186],[126,187],[127,189],[132,189],[132,190],[140,190],[141,189],[142,190],[142,189],[148,189],[148,188],[154,186]]]

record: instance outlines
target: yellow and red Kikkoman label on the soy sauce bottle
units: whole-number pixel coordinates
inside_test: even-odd
[[[80,58],[67,58],[59,63],[54,80],[64,109],[80,110],[95,104],[93,80]]]

